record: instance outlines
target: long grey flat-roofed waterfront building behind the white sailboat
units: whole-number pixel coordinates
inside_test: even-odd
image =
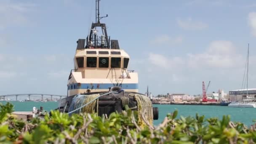
[[[230,101],[242,101],[248,98],[256,98],[256,88],[248,88],[248,95],[247,89],[229,91]]]

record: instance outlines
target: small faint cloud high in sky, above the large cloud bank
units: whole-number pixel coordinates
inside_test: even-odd
[[[177,20],[179,27],[185,30],[202,30],[208,28],[208,24],[205,24],[201,21],[194,21],[191,18],[185,20]]]

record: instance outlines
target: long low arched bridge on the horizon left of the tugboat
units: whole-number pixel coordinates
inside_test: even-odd
[[[54,94],[36,94],[36,93],[28,93],[28,94],[8,94],[8,95],[0,95],[0,99],[3,99],[5,101],[5,97],[13,97],[16,96],[16,101],[18,101],[18,96],[28,96],[29,100],[30,97],[41,97],[41,99],[43,100],[43,98],[51,98],[51,101],[53,100],[53,96],[54,97],[59,97],[60,99],[62,97],[65,97],[64,95],[54,95]],[[50,96],[50,97],[49,97]]]

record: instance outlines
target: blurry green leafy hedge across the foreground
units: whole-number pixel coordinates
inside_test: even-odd
[[[14,144],[250,144],[256,142],[255,125],[247,128],[233,123],[229,116],[205,119],[204,116],[176,118],[178,112],[168,114],[156,127],[141,128],[137,117],[127,109],[127,115],[112,113],[74,114],[52,111],[44,120],[18,120],[11,104],[0,105],[0,143]]]

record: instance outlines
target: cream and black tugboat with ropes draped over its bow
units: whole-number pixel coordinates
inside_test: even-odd
[[[138,74],[127,69],[130,56],[120,49],[118,40],[110,39],[106,24],[100,22],[107,16],[99,16],[99,1],[96,0],[96,22],[91,24],[90,33],[86,39],[77,40],[67,97],[59,101],[58,109],[69,114],[102,116],[122,113],[128,106],[138,111],[139,125],[145,125],[142,115],[153,124],[158,119],[158,108],[153,108],[149,97],[139,93]]]

